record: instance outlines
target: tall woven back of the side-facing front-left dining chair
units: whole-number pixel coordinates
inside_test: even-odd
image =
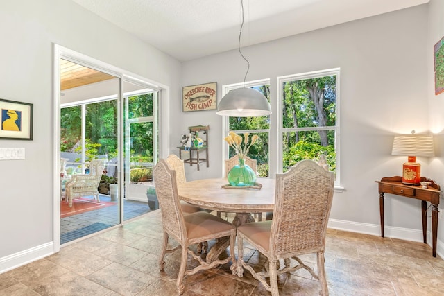
[[[176,171],[169,168],[165,159],[160,159],[154,167],[153,178],[164,230],[176,241],[185,241],[187,232],[180,209]]]

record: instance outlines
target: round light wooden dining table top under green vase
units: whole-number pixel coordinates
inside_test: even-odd
[[[275,203],[275,180],[258,178],[262,189],[226,189],[226,178],[202,179],[178,185],[181,200],[204,209],[248,213],[273,211]]]

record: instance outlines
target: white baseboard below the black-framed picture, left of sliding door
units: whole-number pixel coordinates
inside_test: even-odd
[[[54,254],[53,242],[0,258],[0,274],[52,254]]]

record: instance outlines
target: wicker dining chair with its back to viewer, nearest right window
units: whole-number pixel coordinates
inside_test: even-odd
[[[328,295],[324,252],[333,191],[333,173],[313,160],[302,160],[287,173],[277,174],[273,220],[237,227],[237,275],[242,277],[245,268],[275,296],[279,295],[278,275],[305,268],[319,280],[321,295]],[[244,241],[266,256],[268,272],[256,272],[244,262]],[[318,275],[298,258],[311,253],[317,256]],[[297,265],[285,264],[278,270],[279,260],[290,258]],[[270,277],[270,284],[266,277]]]

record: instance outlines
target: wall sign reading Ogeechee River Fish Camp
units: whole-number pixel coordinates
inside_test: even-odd
[[[216,89],[216,82],[183,87],[182,111],[216,110]]]

